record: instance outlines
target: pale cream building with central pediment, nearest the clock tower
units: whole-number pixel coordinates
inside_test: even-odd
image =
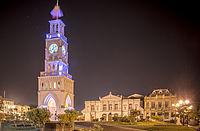
[[[140,97],[142,96],[140,95]],[[134,95],[130,97],[113,95],[110,92],[107,96],[99,97],[97,101],[85,101],[82,113],[85,121],[94,119],[109,121],[114,116],[130,116],[132,110],[139,110],[143,113],[140,98],[136,98]]]

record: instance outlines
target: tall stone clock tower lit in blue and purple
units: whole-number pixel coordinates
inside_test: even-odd
[[[38,107],[56,115],[74,107],[74,81],[69,73],[68,43],[64,36],[65,24],[60,17],[62,11],[57,5],[51,12],[50,32],[45,39],[45,71],[38,77]]]

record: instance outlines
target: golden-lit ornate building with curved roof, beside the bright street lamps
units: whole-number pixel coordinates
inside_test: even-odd
[[[176,102],[177,97],[168,89],[156,89],[144,97],[144,118],[160,116],[164,121],[169,121],[174,117],[175,109],[172,104]]]

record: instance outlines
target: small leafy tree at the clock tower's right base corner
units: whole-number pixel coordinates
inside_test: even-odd
[[[74,121],[78,117],[78,112],[75,110],[65,110],[65,114],[59,114],[59,122],[61,126],[64,128],[65,124],[67,124],[70,128],[74,126]]]

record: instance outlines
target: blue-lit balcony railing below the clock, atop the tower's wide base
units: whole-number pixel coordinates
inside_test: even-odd
[[[64,71],[40,72],[40,76],[63,76],[63,75],[69,79],[72,79],[72,75]]]

